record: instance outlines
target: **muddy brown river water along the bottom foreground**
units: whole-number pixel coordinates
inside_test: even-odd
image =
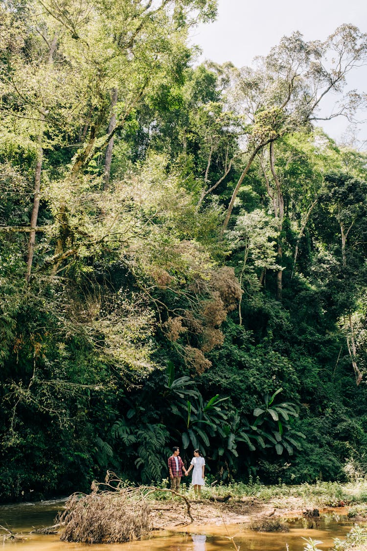
[[[63,510],[64,501],[50,500],[39,503],[0,505],[0,525],[13,533],[23,534],[23,539],[7,539],[3,551],[229,551],[234,549],[228,539],[226,527],[217,525],[189,525],[175,531],[152,532],[143,541],[120,544],[68,543],[59,541],[59,534],[30,534],[35,528],[51,526],[58,511]],[[287,533],[260,533],[248,530],[244,525],[228,525],[229,534],[240,547],[240,551],[303,551],[306,542],[302,538],[313,538],[323,542],[317,544],[322,550],[333,545],[333,538],[344,538],[353,522],[346,515],[328,512],[321,516],[317,527],[308,528],[303,519],[289,519]],[[0,530],[0,534],[3,530]]]

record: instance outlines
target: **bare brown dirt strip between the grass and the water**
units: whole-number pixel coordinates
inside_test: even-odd
[[[188,525],[232,525],[243,523],[251,525],[263,520],[275,518],[301,517],[306,509],[317,508],[313,504],[304,505],[301,499],[290,498],[287,506],[278,508],[272,501],[263,503],[257,498],[244,498],[237,500],[229,499],[225,503],[212,502],[209,500],[190,501],[188,506],[184,500],[173,498],[167,501],[156,501],[152,504],[151,523],[154,530],[174,530]],[[346,514],[340,508],[340,514]],[[321,510],[320,510],[321,512]]]

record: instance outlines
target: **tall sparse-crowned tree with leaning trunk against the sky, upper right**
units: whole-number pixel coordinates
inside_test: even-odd
[[[366,35],[353,25],[342,25],[325,42],[305,42],[300,33],[284,37],[268,56],[258,58],[256,69],[234,71],[233,109],[248,124],[247,164],[234,188],[222,233],[256,154],[280,137],[309,127],[317,120],[322,98],[331,90],[342,91],[346,75],[366,59]],[[363,94],[347,93],[328,118],[352,117],[363,101]]]

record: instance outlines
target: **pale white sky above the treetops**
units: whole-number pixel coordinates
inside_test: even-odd
[[[325,40],[343,23],[352,23],[367,33],[366,0],[218,0],[217,20],[200,24],[191,40],[202,49],[199,62],[232,61],[243,67],[251,66],[255,56],[267,55],[284,35],[300,31],[307,41]],[[367,66],[354,69],[348,81],[348,89],[367,91]],[[336,99],[331,95],[325,109],[332,107]],[[367,112],[359,114],[360,121],[364,118],[367,120]],[[333,139],[342,142],[349,122],[338,117],[323,121],[322,126]],[[360,142],[366,141],[367,122],[357,125],[355,132]]]

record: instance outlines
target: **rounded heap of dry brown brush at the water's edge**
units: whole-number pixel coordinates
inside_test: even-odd
[[[59,522],[64,525],[62,541],[122,543],[149,531],[149,506],[140,494],[129,489],[73,494]]]

